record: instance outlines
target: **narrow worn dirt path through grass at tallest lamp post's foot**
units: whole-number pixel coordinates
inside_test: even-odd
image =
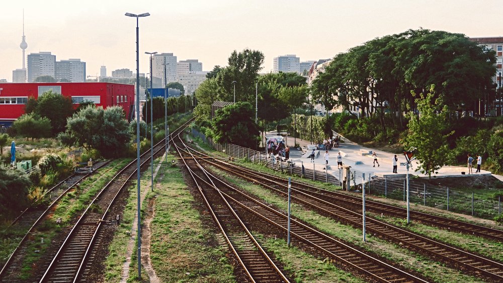
[[[162,159],[160,160],[160,163],[157,165],[157,168],[155,168],[154,170],[154,179],[155,179],[155,176],[157,176],[157,172],[159,172],[159,168],[160,168],[160,165],[162,164],[162,162],[164,162],[164,158],[166,156],[163,155],[162,156]],[[145,196],[146,194],[148,193],[149,191],[149,186],[146,186],[144,188],[142,188],[142,191],[141,191],[141,195],[140,195],[140,203],[143,203],[143,200],[145,200]],[[133,225],[131,226],[131,237],[129,237],[129,242],[128,242],[128,245],[127,245],[127,250],[126,250],[126,260],[124,261],[124,264],[122,265],[122,276],[121,276],[121,283],[127,283],[127,279],[129,277],[129,265],[131,264],[131,255],[133,254],[133,251],[136,251],[136,245],[135,245],[135,240],[136,240],[136,232],[138,231],[137,227],[138,227],[138,218],[137,218],[137,214],[135,214],[134,216],[134,220],[133,220]],[[151,220],[150,220],[151,221]],[[150,222],[149,222],[149,226],[148,226],[148,235],[150,237]],[[153,268],[151,267],[151,265],[145,265],[145,263],[143,262],[143,247],[144,247],[144,244],[143,244],[143,236],[142,236],[142,240],[141,240],[141,245],[142,245],[142,249],[141,249],[141,253],[142,253],[142,256],[141,256],[141,259],[142,259],[142,265],[143,267],[148,270],[148,268],[152,269]],[[150,249],[150,239],[148,240],[148,248]],[[148,260],[147,262],[150,263],[150,254],[146,254],[148,256]],[[148,271],[147,271],[148,273]],[[154,272],[155,274],[155,272]],[[148,274],[150,276],[150,274]],[[157,277],[155,277],[157,278]],[[152,281],[152,278],[150,278],[151,282],[154,282]],[[159,282],[159,281],[155,281],[155,282]]]

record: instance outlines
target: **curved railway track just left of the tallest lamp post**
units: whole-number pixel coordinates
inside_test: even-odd
[[[190,122],[192,120],[188,121]],[[175,133],[185,126],[177,129]],[[163,153],[164,143],[162,139],[153,147],[154,155]],[[140,156],[140,166],[148,164],[149,160],[150,151],[147,151]],[[115,220],[115,214],[110,213],[114,201],[136,174],[136,168],[137,160],[126,165],[91,201],[45,268],[45,272],[37,278],[40,282],[85,281],[81,276],[95,270],[97,250],[94,247],[99,246],[103,240],[101,233],[105,230],[104,227]]]

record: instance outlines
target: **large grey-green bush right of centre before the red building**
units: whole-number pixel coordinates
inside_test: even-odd
[[[88,106],[68,118],[66,131],[58,138],[64,145],[96,149],[112,158],[125,152],[130,135],[122,107]]]

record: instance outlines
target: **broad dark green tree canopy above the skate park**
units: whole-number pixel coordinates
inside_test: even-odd
[[[478,46],[463,34],[426,29],[388,35],[336,55],[311,87],[314,99],[328,109],[359,107],[362,116],[380,115],[385,126],[404,126],[401,115],[384,114],[415,109],[410,90],[436,86],[449,109],[472,107],[492,88],[494,51]],[[333,98],[333,100],[332,100]]]

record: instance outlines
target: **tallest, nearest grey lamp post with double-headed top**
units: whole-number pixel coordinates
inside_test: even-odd
[[[137,213],[138,227],[137,236],[141,239],[141,218],[140,218],[140,60],[139,60],[139,38],[138,38],[138,18],[150,16],[148,13],[135,15],[126,13],[128,17],[136,18],[136,194],[137,194]],[[141,241],[138,240],[138,278],[141,278]]]

